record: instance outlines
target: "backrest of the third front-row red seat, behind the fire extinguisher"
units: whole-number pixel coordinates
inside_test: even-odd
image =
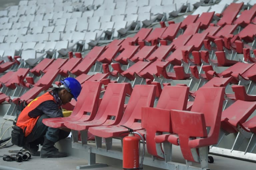
[[[135,85],[119,124],[131,127],[134,123],[139,123],[140,126],[141,108],[153,107],[155,93],[155,85]]]

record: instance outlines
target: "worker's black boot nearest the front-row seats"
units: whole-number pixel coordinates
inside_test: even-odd
[[[66,157],[65,152],[59,152],[57,148],[54,147],[54,142],[44,138],[44,144],[41,148],[40,157],[41,158],[61,158]]]

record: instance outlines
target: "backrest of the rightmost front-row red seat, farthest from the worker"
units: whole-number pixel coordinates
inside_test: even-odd
[[[197,91],[191,111],[204,114],[206,126],[210,127],[208,136],[213,135],[218,140],[225,89],[201,87]]]

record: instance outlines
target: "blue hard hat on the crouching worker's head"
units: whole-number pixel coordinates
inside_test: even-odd
[[[80,83],[72,77],[65,78],[64,80],[61,80],[60,83],[64,85],[65,89],[68,90],[77,101],[77,97],[82,89]]]

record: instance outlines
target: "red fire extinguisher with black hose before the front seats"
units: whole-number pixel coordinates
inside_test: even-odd
[[[123,170],[139,170],[142,169],[143,165],[145,142],[139,133],[133,132],[130,128],[128,129],[128,132],[130,132],[129,135],[123,138]],[[141,162],[139,162],[140,139],[134,136],[134,134],[138,134],[143,142]]]

